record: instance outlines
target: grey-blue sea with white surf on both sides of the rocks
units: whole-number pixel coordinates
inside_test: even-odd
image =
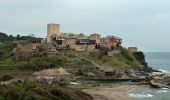
[[[145,53],[148,65],[170,76],[170,52]],[[155,89],[149,86],[140,86],[128,91],[127,95],[134,100],[170,100],[170,89]]]

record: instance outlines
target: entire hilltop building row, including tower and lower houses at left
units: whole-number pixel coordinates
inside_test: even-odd
[[[86,36],[83,33],[60,33],[59,24],[47,25],[47,37],[41,43],[19,42],[17,48],[13,50],[14,54],[26,56],[32,52],[45,51],[48,54],[56,53],[59,49],[72,49],[78,52],[91,52],[99,48],[105,48],[108,51],[118,53],[118,47],[122,39],[116,36],[101,37],[98,33]]]

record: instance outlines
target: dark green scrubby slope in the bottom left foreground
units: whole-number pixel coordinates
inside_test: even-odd
[[[27,80],[24,83],[0,85],[0,100],[93,100],[93,98],[64,83],[51,86]]]

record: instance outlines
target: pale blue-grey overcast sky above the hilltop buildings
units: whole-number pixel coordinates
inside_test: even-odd
[[[124,46],[170,51],[170,0],[0,0],[0,31],[46,36],[46,24],[62,32],[116,35]]]

